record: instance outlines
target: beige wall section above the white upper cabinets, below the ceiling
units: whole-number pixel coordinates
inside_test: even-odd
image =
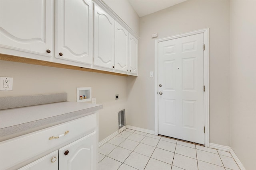
[[[134,11],[128,0],[103,0],[129,27],[139,35],[138,14]]]

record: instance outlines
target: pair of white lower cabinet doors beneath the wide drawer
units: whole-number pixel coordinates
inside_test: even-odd
[[[96,147],[94,131],[18,170],[96,170]]]

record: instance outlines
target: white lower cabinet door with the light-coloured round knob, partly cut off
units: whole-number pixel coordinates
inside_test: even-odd
[[[58,150],[18,170],[58,170]]]

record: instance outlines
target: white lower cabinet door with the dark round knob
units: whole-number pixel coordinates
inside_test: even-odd
[[[96,170],[98,158],[97,133],[89,135],[59,149],[59,170]]]

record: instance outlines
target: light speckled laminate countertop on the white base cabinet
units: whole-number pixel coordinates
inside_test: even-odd
[[[102,109],[100,104],[58,102],[36,106],[0,110],[0,137],[23,135],[78,117],[90,115]],[[9,138],[10,138],[9,137]]]

